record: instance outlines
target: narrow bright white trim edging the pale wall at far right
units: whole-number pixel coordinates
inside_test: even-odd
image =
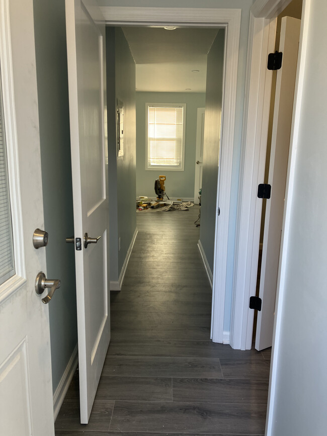
[[[270,369],[270,383],[268,393],[268,408],[266,420],[266,435],[271,436],[274,423],[274,403],[276,395],[276,383],[278,372],[278,355],[279,346],[282,334],[281,322],[284,305],[284,292],[286,281],[286,266],[287,266],[287,249],[288,249],[288,235],[290,231],[290,218],[293,199],[293,187],[295,177],[295,161],[297,153],[298,132],[300,126],[300,114],[302,107],[302,94],[305,73],[305,59],[307,53],[308,42],[308,28],[310,17],[311,0],[303,0],[302,19],[301,19],[301,34],[299,45],[298,69],[295,83],[294,92],[294,106],[293,106],[293,122],[291,129],[290,152],[288,160],[287,181],[286,181],[286,196],[285,196],[285,210],[283,218],[283,231],[281,238],[281,255],[277,279],[277,293],[276,293],[276,309],[275,309],[275,323],[273,333],[273,347],[272,347],[272,362]]]

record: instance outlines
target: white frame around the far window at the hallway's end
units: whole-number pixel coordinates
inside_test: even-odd
[[[183,136],[182,136],[182,159],[181,166],[176,167],[172,165],[151,165],[148,164],[148,108],[183,108]],[[184,171],[185,169],[185,136],[186,136],[186,103],[145,103],[145,170],[147,171]]]

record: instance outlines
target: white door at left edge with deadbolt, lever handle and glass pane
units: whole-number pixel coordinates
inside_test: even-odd
[[[32,244],[44,226],[32,0],[0,0],[0,34],[0,434],[51,436],[48,305],[34,289],[46,248]]]

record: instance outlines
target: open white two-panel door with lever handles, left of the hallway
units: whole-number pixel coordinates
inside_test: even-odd
[[[80,422],[88,423],[110,340],[105,25],[96,2],[66,0],[66,29]]]

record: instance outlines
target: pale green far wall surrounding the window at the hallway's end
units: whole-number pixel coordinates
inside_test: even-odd
[[[146,170],[145,103],[186,103],[185,169],[184,171]],[[136,195],[155,198],[154,181],[167,177],[169,197],[194,198],[197,109],[204,108],[204,93],[136,93]]]

